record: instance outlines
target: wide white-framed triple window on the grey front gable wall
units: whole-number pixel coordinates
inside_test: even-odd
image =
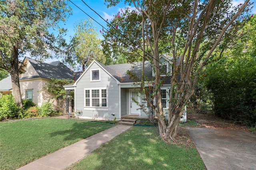
[[[107,89],[85,89],[85,107],[107,107]]]

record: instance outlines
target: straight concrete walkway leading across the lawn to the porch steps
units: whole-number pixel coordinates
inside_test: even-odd
[[[44,156],[43,158],[35,160],[18,170],[62,170],[72,163],[82,159],[100,145],[110,141],[116,137],[116,135],[119,135],[130,127],[131,126],[127,125],[116,125],[110,129],[74,143],[73,145]]]

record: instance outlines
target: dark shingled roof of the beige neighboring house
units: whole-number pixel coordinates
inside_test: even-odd
[[[29,79],[29,78],[56,78],[56,79],[71,79],[73,80],[74,72],[70,70],[67,66],[65,66],[60,61],[43,63],[41,61],[26,57],[28,59],[28,62],[33,66],[33,68],[36,70],[38,75],[34,76],[26,76],[26,77],[20,77],[20,80]]]

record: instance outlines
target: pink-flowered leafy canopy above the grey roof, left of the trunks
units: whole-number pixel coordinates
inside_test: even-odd
[[[138,11],[126,7],[120,9],[120,12],[109,21],[107,30],[100,31],[104,37],[102,49],[106,65],[142,60],[141,21],[142,16],[138,15]]]

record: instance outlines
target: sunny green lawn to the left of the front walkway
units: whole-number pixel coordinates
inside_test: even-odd
[[[113,126],[58,118],[0,122],[0,169],[19,168]]]

